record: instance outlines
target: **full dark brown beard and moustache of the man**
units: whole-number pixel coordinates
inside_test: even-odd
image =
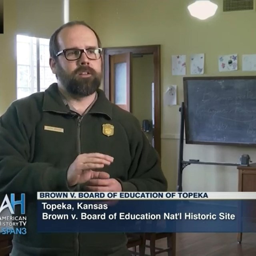
[[[102,73],[97,73],[93,68],[89,66],[80,66],[76,68],[71,74],[68,74],[60,64],[57,65],[56,77],[60,80],[62,86],[72,96],[84,97],[89,96],[96,92],[100,87]],[[90,77],[79,77],[78,74],[82,72],[88,72]]]

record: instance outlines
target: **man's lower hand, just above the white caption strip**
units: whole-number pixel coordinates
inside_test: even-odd
[[[84,189],[90,192],[122,192],[122,186],[116,179],[94,178],[86,182]]]

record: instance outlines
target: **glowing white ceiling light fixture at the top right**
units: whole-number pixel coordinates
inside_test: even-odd
[[[200,20],[206,20],[213,16],[217,8],[218,5],[212,3],[210,0],[196,0],[193,4],[188,6],[191,16]]]

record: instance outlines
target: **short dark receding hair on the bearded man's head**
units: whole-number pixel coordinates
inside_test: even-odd
[[[98,47],[101,48],[101,42],[100,42],[100,38],[98,36],[98,34],[84,21],[70,21],[68,23],[63,24],[62,26],[60,26],[51,36],[50,38],[50,44],[49,44],[49,50],[50,50],[50,57],[52,57],[53,59],[56,60],[56,54],[60,51],[60,46],[58,44],[58,34],[60,33],[60,31],[63,28],[66,27],[72,27],[75,25],[83,25],[86,26],[87,28],[90,28],[90,30],[92,30],[97,38],[98,41]]]

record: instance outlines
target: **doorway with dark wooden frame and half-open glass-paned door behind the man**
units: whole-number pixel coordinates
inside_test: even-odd
[[[160,45],[104,48],[103,54],[107,98],[132,112],[144,130],[150,127],[146,135],[161,156]],[[140,66],[143,62],[147,68]],[[120,77],[120,86],[116,86]],[[138,80],[145,82],[142,85]],[[140,98],[143,90],[147,97]]]

